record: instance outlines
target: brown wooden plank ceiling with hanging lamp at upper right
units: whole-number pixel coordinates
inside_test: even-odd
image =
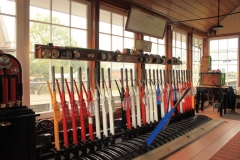
[[[129,0],[128,0],[129,1]],[[208,32],[218,24],[218,0],[130,0],[139,5],[151,8],[169,18],[170,24],[179,23]],[[226,15],[232,13],[240,5],[240,0],[220,0],[220,24]],[[240,13],[239,13],[240,14]],[[202,19],[215,17],[209,19]],[[194,20],[202,19],[202,20]],[[192,20],[192,21],[186,21]],[[185,21],[185,22],[184,22]]]

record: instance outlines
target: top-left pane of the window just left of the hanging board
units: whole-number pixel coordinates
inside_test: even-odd
[[[99,32],[111,33],[111,13],[105,10],[100,10]]]

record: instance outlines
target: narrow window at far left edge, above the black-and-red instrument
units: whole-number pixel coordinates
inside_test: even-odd
[[[16,2],[0,1],[0,49],[16,56]]]

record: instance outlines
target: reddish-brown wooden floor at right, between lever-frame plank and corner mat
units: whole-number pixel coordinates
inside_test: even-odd
[[[236,109],[240,113],[240,109]],[[207,107],[204,111],[197,114],[203,114],[211,118],[219,118],[217,109]],[[224,119],[224,118],[222,118]],[[234,135],[240,131],[240,121],[224,119],[225,123],[208,132],[201,138],[195,140],[186,147],[164,158],[165,160],[208,160],[220,148],[222,148]]]

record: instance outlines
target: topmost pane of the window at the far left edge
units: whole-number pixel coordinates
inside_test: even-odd
[[[0,1],[0,13],[16,15],[16,2],[15,0],[1,0]]]

